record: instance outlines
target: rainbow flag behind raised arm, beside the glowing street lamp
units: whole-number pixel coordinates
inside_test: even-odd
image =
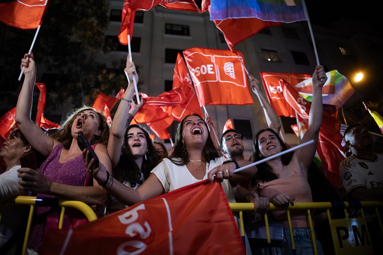
[[[323,103],[326,105],[335,105],[338,110],[354,94],[355,90],[349,80],[341,75],[337,70],[326,73],[327,81],[323,86]],[[313,85],[310,79],[304,80],[294,86],[307,101],[311,102],[313,94]]]

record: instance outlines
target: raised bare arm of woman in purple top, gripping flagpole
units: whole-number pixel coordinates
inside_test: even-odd
[[[26,60],[27,57],[29,57],[29,60]],[[53,149],[55,141],[31,121],[32,95],[34,82],[36,81],[36,63],[34,62],[33,53],[24,55],[21,60],[21,69],[23,67],[25,67],[25,78],[17,100],[15,121],[32,147],[41,155],[47,157]]]

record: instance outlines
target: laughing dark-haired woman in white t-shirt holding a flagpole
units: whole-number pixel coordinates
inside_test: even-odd
[[[83,159],[90,168],[93,159],[89,160],[83,152]],[[224,163],[227,162],[227,163]],[[213,182],[213,175],[218,181],[223,181],[224,191],[229,202],[234,202],[232,186],[238,181],[254,176],[257,168],[250,167],[233,174],[236,168],[250,164],[247,160],[225,159],[220,157],[218,150],[211,140],[206,122],[198,114],[186,116],[179,124],[175,145],[169,159],[164,159],[152,170],[152,174],[137,190],[133,190],[118,181],[113,182],[102,164],[96,168],[92,175],[121,203],[132,205],[159,196],[165,192],[181,188],[201,180],[209,179]]]

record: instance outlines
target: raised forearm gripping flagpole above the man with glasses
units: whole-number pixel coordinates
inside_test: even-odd
[[[254,78],[251,74],[250,76],[250,87],[252,88],[253,92],[255,94],[258,94],[258,99],[260,103],[263,105],[266,121],[268,127],[273,129],[277,134],[279,134],[279,131],[281,130],[281,123],[278,119],[277,114],[275,113],[274,109],[271,107],[268,100],[265,98],[265,96],[262,93],[261,86],[259,80]]]

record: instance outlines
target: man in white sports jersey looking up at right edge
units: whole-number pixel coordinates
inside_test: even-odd
[[[370,132],[355,123],[345,130],[344,140],[352,152],[339,166],[347,196],[351,201],[383,201],[383,154],[373,153]],[[375,254],[380,254],[383,237],[376,214],[371,209],[364,212]]]

